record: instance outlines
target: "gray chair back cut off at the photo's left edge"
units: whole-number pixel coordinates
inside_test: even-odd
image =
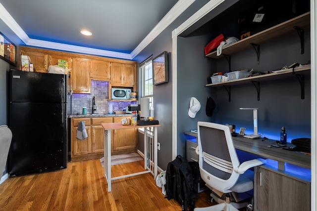
[[[5,170],[11,140],[11,130],[5,125],[0,126],[0,176],[2,176],[2,173]]]

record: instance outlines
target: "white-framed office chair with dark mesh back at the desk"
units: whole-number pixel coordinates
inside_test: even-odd
[[[211,189],[211,197],[221,204],[195,208],[194,211],[238,211],[246,207],[248,202],[245,197],[241,198],[237,193],[253,189],[253,176],[250,179],[244,173],[252,167],[265,164],[266,161],[255,159],[240,165],[229,127],[207,122],[198,122],[197,125],[196,153],[199,155],[201,177]],[[252,171],[251,173],[253,175]],[[250,195],[248,198],[250,199]],[[231,199],[236,202],[231,202]],[[241,201],[244,203],[239,204]]]

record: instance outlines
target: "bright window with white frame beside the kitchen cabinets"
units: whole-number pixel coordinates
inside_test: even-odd
[[[142,76],[142,91],[141,96],[150,98],[150,111],[153,116],[153,71],[152,71],[152,56],[140,63],[141,76]]]

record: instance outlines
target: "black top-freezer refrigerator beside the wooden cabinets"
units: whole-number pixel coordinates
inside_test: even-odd
[[[67,75],[10,70],[11,176],[67,168]]]

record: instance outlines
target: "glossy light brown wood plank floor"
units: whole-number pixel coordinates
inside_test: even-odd
[[[143,161],[111,167],[112,176],[143,169]],[[196,207],[208,207],[209,191]],[[107,192],[99,159],[70,162],[66,169],[16,176],[0,184],[0,211],[181,211],[167,200],[151,173],[114,180]]]

